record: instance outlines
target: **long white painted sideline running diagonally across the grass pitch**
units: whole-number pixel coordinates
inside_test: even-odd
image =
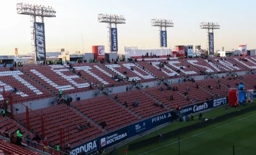
[[[209,132],[210,130],[217,129],[217,128],[223,127],[223,126],[228,125],[228,124],[231,124],[231,123],[235,123],[235,122],[237,122],[237,121],[240,121],[240,120],[246,119],[246,118],[251,117],[251,116],[254,116],[254,115],[256,115],[256,113],[254,113],[253,115],[250,115],[250,116],[243,117],[242,119],[238,119],[238,120],[231,121],[231,122],[229,122],[229,123],[226,123],[226,124],[220,125],[219,127],[215,127],[215,128],[213,128],[213,129],[206,130],[206,131],[204,131],[204,132],[201,132],[201,133],[195,134],[195,135],[193,135],[193,136],[190,136],[190,137],[184,138],[184,139],[179,140],[179,141],[183,141],[183,140],[186,140],[186,139],[189,139],[189,138],[192,138],[192,137],[198,136],[199,134],[203,134],[203,133],[205,133],[205,132]],[[169,146],[169,145],[175,144],[175,143],[177,143],[177,142],[179,142],[179,141],[171,142],[170,144],[163,145],[163,146],[161,146],[161,147],[159,147],[159,148],[156,148],[156,149],[153,149],[153,150],[149,150],[149,151],[147,151],[147,152],[144,152],[144,153],[141,153],[141,154],[138,154],[138,155],[142,155],[142,154],[146,154],[146,153],[149,153],[149,152],[153,152],[154,150],[158,150],[158,149],[164,148],[164,147],[166,147],[166,146]]]

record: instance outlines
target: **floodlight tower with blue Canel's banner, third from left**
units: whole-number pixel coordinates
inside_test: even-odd
[[[160,47],[167,47],[167,27],[174,27],[174,23],[170,19],[151,19],[151,26],[157,26],[160,28]],[[165,28],[163,30],[163,28]]]

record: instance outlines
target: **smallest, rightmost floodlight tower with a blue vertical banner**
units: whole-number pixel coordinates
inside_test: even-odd
[[[200,28],[207,29],[207,51],[209,55],[214,55],[214,35],[213,30],[219,29],[219,23],[203,22],[200,23]],[[211,30],[211,32],[210,32]]]

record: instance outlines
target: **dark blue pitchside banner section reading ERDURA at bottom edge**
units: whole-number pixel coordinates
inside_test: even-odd
[[[81,152],[89,153],[95,150],[97,150],[97,143],[94,140],[93,142],[88,142],[85,145],[82,145],[78,148],[71,150],[70,154],[77,155],[78,153],[81,153]]]

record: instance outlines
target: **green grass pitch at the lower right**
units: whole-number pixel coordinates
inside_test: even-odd
[[[247,106],[246,108],[248,108]],[[225,115],[225,108],[221,107],[213,111],[203,113],[207,119]],[[238,111],[245,107],[229,108],[228,112]],[[166,133],[171,130],[186,127],[187,125],[198,123],[198,117],[194,121],[186,123],[178,122],[170,124],[165,128],[156,130],[146,136],[131,141],[141,141],[149,137],[157,136],[160,132]],[[235,145],[235,154],[256,154],[256,111],[248,112],[244,115],[232,117],[231,119],[209,125],[205,128],[191,130],[182,134],[180,138],[180,154],[233,154],[233,145]],[[128,155],[132,154],[179,154],[178,136],[157,142],[153,145],[143,147],[138,150],[127,150]],[[122,153],[123,149],[128,149],[128,144],[117,149],[117,154]]]

